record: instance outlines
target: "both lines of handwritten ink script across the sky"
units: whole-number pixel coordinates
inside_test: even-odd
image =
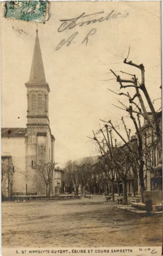
[[[75,27],[81,27],[83,25],[89,25],[89,24],[95,24],[96,22],[103,22],[111,19],[116,19],[116,18],[126,18],[128,16],[128,12],[115,12],[112,10],[108,14],[105,14],[103,12],[96,12],[93,14],[85,14],[83,12],[81,15],[77,16],[76,18],[71,18],[71,19],[63,19],[60,20],[62,22],[61,26],[58,29],[58,32],[63,32],[68,29],[73,29]],[[96,33],[96,28],[92,28],[91,30],[88,31],[84,39],[82,40],[82,44],[85,44],[85,46],[88,44],[88,39],[92,38],[92,35]],[[73,35],[71,35],[68,39],[63,39],[57,46],[55,50],[59,50],[63,45],[69,46],[71,42],[75,42],[75,38],[79,32],[75,32]]]

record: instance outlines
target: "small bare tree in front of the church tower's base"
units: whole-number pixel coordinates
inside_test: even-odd
[[[33,169],[37,171],[37,173],[41,176],[43,181],[45,182],[45,191],[46,198],[49,199],[48,188],[53,180],[53,172],[55,171],[55,162],[43,163],[43,161],[39,161],[39,164],[36,162],[33,163]]]

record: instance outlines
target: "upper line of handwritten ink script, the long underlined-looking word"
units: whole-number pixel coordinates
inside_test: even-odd
[[[128,16],[128,12],[125,12],[122,14],[121,12],[115,12],[112,10],[109,14],[104,15],[103,12],[96,12],[93,14],[85,14],[83,12],[81,15],[79,15],[76,18],[71,18],[71,19],[63,19],[60,20],[62,22],[61,26],[58,29],[58,32],[63,32],[66,29],[72,29],[77,26],[81,27],[83,25],[89,25],[89,24],[94,24],[96,22],[103,22],[111,19],[116,19],[116,18],[126,18]]]

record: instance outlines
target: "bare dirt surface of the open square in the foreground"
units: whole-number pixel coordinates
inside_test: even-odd
[[[2,203],[3,247],[162,246],[162,213],[93,199]]]

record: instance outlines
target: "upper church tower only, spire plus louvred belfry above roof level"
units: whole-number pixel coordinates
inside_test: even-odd
[[[35,46],[27,88],[27,125],[47,124],[49,84],[45,79],[43,60],[36,29]]]

